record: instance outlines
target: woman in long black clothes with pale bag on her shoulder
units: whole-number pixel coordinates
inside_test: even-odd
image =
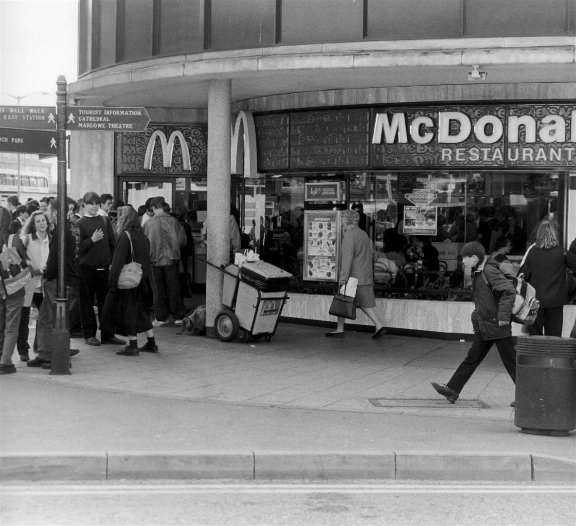
[[[100,330],[111,334],[128,336],[129,345],[116,351],[121,356],[138,356],[140,351],[158,352],[154,331],[150,321],[150,308],[153,303],[150,284],[150,241],[140,226],[138,212],[132,206],[120,206],[116,223],[118,241],[110,266],[108,295],[104,302],[104,312]],[[142,265],[142,279],[135,288],[119,289],[118,278],[122,267],[132,261]],[[147,341],[138,348],[138,333],[145,332]]]

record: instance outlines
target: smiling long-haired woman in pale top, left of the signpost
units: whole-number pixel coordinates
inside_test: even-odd
[[[40,309],[40,304],[44,297],[42,294],[42,275],[48,261],[50,238],[50,221],[46,212],[43,210],[33,212],[20,231],[20,239],[26,249],[26,260],[32,275],[32,280],[25,287],[24,307],[22,307],[22,314],[20,315],[20,327],[18,328],[18,340],[16,341],[16,348],[22,362],[28,362],[30,358],[28,354],[30,350],[28,325],[31,307],[34,305],[36,309]],[[38,345],[35,337],[33,343],[34,352],[37,349]]]

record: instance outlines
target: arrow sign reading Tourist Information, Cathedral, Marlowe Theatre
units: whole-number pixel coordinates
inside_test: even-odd
[[[146,108],[67,107],[66,129],[90,132],[143,132],[150,122]]]

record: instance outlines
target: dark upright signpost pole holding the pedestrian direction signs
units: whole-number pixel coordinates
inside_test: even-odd
[[[54,328],[52,330],[52,367],[50,374],[70,373],[70,323],[66,294],[66,77],[56,81],[56,107],[58,110],[58,290],[56,291]]]

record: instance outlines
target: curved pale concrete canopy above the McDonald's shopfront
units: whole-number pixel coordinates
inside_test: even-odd
[[[473,65],[488,73],[486,81],[467,82]],[[207,107],[209,81],[217,78],[232,79],[232,101],[238,104],[288,93],[350,90],[365,91],[363,98],[370,90],[386,90],[390,99],[390,93],[400,88],[418,92],[419,87],[458,86],[475,99],[473,93],[488,85],[549,83],[558,85],[562,98],[574,98],[576,39],[405,40],[202,52],[105,67],[85,74],[70,84],[69,91],[86,106],[202,109]]]

